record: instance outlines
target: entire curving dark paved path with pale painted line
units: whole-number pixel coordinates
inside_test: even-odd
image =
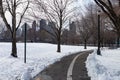
[[[90,80],[85,68],[85,61],[91,52],[86,51],[66,56],[48,66],[33,80]]]

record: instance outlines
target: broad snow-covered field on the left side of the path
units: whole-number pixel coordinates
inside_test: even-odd
[[[17,43],[18,58],[10,56],[11,43],[0,43],[0,80],[29,80],[46,66],[60,60],[63,56],[85,51],[82,46],[62,46],[56,52],[56,45],[44,43],[27,44],[27,63],[24,64],[24,44]],[[94,49],[94,47],[89,47]]]

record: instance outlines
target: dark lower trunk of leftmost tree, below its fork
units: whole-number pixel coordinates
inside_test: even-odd
[[[11,56],[17,57],[16,32],[12,33],[12,53]]]

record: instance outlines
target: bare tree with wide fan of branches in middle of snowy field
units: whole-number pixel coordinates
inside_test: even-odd
[[[73,0],[37,0],[38,8],[41,6],[47,19],[56,24],[56,26],[52,26],[51,28],[54,31],[53,36],[57,40],[57,52],[61,52],[61,34],[64,25],[74,11],[70,9],[72,2]]]

